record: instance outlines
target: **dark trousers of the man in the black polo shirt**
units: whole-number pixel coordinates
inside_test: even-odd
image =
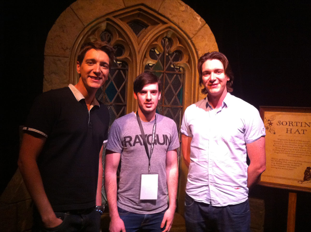
[[[34,232],[99,232],[100,212],[95,209],[82,213],[55,212],[55,215],[63,222],[53,228],[45,228],[37,212],[34,213]]]

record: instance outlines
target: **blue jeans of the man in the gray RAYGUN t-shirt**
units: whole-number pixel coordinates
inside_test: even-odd
[[[131,213],[118,207],[120,218],[123,220],[126,232],[161,232],[161,222],[166,210],[154,214]]]

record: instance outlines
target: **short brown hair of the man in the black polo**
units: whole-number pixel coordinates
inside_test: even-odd
[[[115,50],[109,43],[102,42],[100,40],[82,44],[82,46],[80,48],[80,51],[78,53],[78,57],[77,57],[77,61],[79,62],[80,65],[83,62],[83,59],[85,57],[86,52],[91,50],[91,49],[95,49],[95,50],[100,50],[100,51],[106,52],[106,54],[109,57],[109,67],[111,67],[111,65],[114,62],[114,52],[115,52]]]

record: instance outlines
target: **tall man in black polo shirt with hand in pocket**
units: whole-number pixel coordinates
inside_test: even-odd
[[[82,45],[78,83],[41,94],[30,110],[18,166],[36,206],[35,231],[100,230],[109,112],[95,93],[113,59],[107,43]]]

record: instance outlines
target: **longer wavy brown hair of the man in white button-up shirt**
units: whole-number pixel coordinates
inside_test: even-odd
[[[229,77],[229,80],[227,81],[227,91],[230,93],[233,91],[233,72],[230,68],[229,61],[227,57],[222,54],[221,52],[207,52],[202,57],[199,58],[197,61],[197,71],[199,72],[199,84],[202,86],[203,80],[202,80],[202,66],[205,61],[207,60],[219,60],[222,65],[224,66],[225,75]],[[204,94],[207,94],[207,90],[205,88],[201,89],[201,92]]]

